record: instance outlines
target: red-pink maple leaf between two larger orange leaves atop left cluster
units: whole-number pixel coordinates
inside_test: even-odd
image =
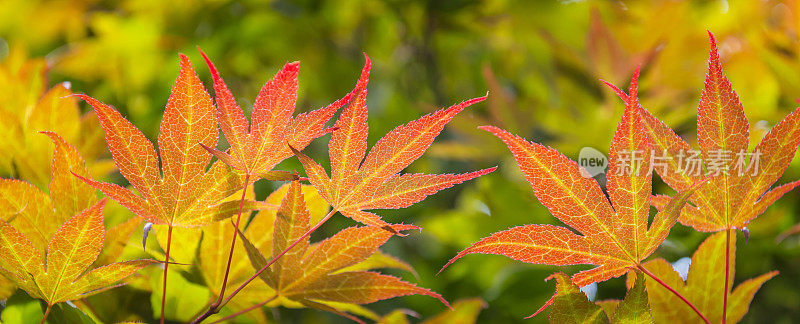
[[[286,63],[283,69],[261,88],[253,104],[252,124],[248,125],[244,112],[236,104],[236,99],[222,80],[217,68],[205,53],[202,51],[200,53],[211,70],[216,94],[217,118],[231,146],[228,152],[210,147],[207,149],[226,164],[250,175],[266,173],[264,175],[266,177],[274,176],[268,171],[292,156],[287,144],[302,150],[313,139],[326,134],[328,131],[324,129],[324,124],[339,108],[350,101],[357,90],[354,89],[327,107],[292,118],[297,102],[300,62]],[[364,70],[369,71],[370,66],[371,62],[367,57]]]

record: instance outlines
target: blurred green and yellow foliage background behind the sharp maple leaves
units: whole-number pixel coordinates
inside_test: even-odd
[[[692,142],[706,71],[705,30],[717,35],[723,65],[751,120],[751,132],[763,134],[800,98],[796,1],[3,0],[0,60],[6,70],[0,71],[0,113],[19,120],[26,141],[46,141],[32,133],[37,129],[27,127],[27,120],[46,98],[47,89],[69,81],[73,91],[113,104],[154,138],[178,68],[177,53],[199,62],[196,46],[214,58],[238,98],[254,98],[284,62],[301,61],[301,110],[320,107],[346,93],[350,84],[342,80],[352,79],[361,67],[361,52],[368,53],[374,61],[368,102],[371,143],[390,125],[488,90],[490,101],[456,118],[410,171],[461,172],[495,164],[500,164],[500,171],[412,208],[387,213],[388,220],[414,222],[425,231],[393,240],[386,252],[414,266],[420,285],[446,298],[480,296],[487,301],[479,321],[517,322],[552,295],[553,284],[542,279],[554,268],[471,256],[433,277],[457,251],[489,233],[517,224],[554,222],[502,144],[475,127],[503,127],[572,158],[584,146],[604,151],[622,104],[598,79],[624,83],[642,64],[643,105]],[[209,85],[207,71],[199,73]],[[251,107],[249,102],[240,104]],[[80,109],[88,111],[85,105]],[[70,118],[80,114],[74,116]],[[83,127],[68,141],[82,143],[78,137],[89,138],[87,129],[96,129]],[[0,143],[13,136],[10,130],[5,125],[0,128]],[[313,155],[325,155],[324,142],[312,144],[310,149],[318,151]],[[27,147],[38,150],[38,144],[0,147],[2,176],[46,183],[25,175],[19,161],[9,161],[32,154],[23,161],[47,166],[49,152],[28,152]],[[82,153],[91,161],[107,155]],[[793,162],[785,179],[800,176],[798,163]],[[299,168],[294,160],[279,166]],[[121,179],[118,174],[111,177]],[[268,187],[260,184],[257,197],[263,199]],[[668,188],[660,185],[655,190]],[[800,221],[797,198],[797,193],[790,193],[768,209],[751,224],[749,241],[738,246],[741,261],[735,284],[769,270],[781,272],[756,295],[745,322],[788,323],[800,318],[800,281],[795,279],[800,276],[800,238],[775,241]],[[130,217],[119,206],[109,209],[110,214],[121,215],[114,216],[116,221],[109,226]],[[323,230],[333,233],[345,224],[350,223],[339,219]],[[135,247],[141,230],[137,233],[126,253],[142,253]],[[681,225],[672,233],[658,252],[668,261],[691,256],[706,237]],[[116,305],[131,314],[152,314],[147,276],[90,298],[95,315],[138,319],[113,312],[103,315]],[[193,280],[188,278],[186,284]],[[620,299],[624,291],[622,279],[612,280],[600,285],[598,299]],[[4,322],[9,316],[37,311],[24,298],[12,299],[3,312]],[[397,308],[413,309],[423,318],[442,311],[425,297],[371,307],[379,314]],[[270,316],[289,322],[341,321],[313,311],[280,310]],[[545,320],[534,318],[534,322]]]

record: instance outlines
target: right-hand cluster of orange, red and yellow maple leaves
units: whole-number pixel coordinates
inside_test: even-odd
[[[708,73],[697,109],[697,138],[704,161],[709,161],[715,151],[747,151],[749,143],[747,117],[722,71],[715,39],[711,33],[709,37]],[[534,315],[553,305],[550,319],[558,323],[607,322],[607,315],[612,322],[631,318],[660,323],[740,320],[758,288],[777,272],[745,281],[731,292],[735,233],[742,230],[746,235],[746,226],[753,218],[800,185],[795,181],[768,190],[789,166],[800,144],[800,108],[776,124],[753,149],[760,156],[759,163],[754,164],[755,172],[695,176],[680,172],[677,164],[678,154],[688,151],[689,144],[640,105],[638,77],[637,68],[628,93],[606,83],[625,102],[625,112],[609,149],[609,170],[626,163],[622,152],[644,154],[641,165],[632,172],[606,174],[608,196],[594,179],[581,175],[577,163],[558,151],[496,127],[482,127],[505,142],[539,201],[580,235],[552,225],[519,226],[480,240],[447,265],[472,253],[505,255],[537,264],[597,265],[573,275],[571,280],[554,275],[557,292]],[[664,152],[667,157],[668,167],[655,170],[678,191],[671,198],[651,196],[652,152]],[[732,165],[729,167],[733,170]],[[659,212],[648,224],[651,205]],[[695,253],[685,283],[663,259],[642,263],[667,238],[676,222],[702,232],[719,232],[706,239]],[[576,294],[577,288],[571,286],[586,286],[632,271],[640,278],[643,273],[652,279],[647,280],[646,296],[636,291],[637,283],[625,301],[602,302],[601,307],[589,303],[583,294]],[[629,302],[628,298],[639,300]],[[637,303],[643,306],[630,306]]]

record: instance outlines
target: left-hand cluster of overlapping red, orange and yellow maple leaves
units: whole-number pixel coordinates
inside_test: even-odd
[[[2,180],[0,270],[9,284],[47,302],[42,321],[57,303],[113,288],[137,270],[161,263],[163,322],[167,273],[169,265],[176,263],[170,252],[191,249],[200,241],[198,236],[186,234],[190,232],[175,231],[173,238],[176,228],[202,229],[203,253],[198,266],[216,295],[216,301],[195,322],[213,316],[223,306],[230,314],[265,304],[313,307],[360,321],[348,312],[377,317],[358,305],[410,294],[429,295],[449,307],[437,293],[372,271],[386,267],[413,271],[379,247],[392,236],[404,236],[404,231],[418,228],[386,223],[365,210],[407,207],[439,190],[493,171],[400,174],[425,152],[448,121],[484,98],[399,126],[366,154],[368,57],[351,93],[327,107],[297,116],[293,115],[299,63],[286,64],[256,97],[252,123],[248,123],[214,65],[205,54],[203,57],[213,76],[216,102],[188,57],[181,55],[180,71],[161,122],[158,152],[116,109],[87,95],[75,95],[93,107],[114,163],[131,188],[94,180],[78,150],[54,132],[45,133],[56,147],[49,198],[33,184]],[[74,101],[66,88],[58,89],[62,90],[60,96],[53,100]],[[335,125],[326,128],[325,123],[343,107]],[[215,148],[220,128],[230,144],[225,151]],[[332,133],[330,176],[299,151],[328,133]],[[300,157],[313,187],[301,185],[295,173],[272,170],[293,155]],[[213,163],[212,156],[217,157]],[[291,182],[266,201],[255,201],[250,185],[261,178]],[[98,202],[95,189],[107,198]],[[103,248],[102,210],[106,199],[143,219],[147,223],[145,235],[151,227],[155,229],[165,252],[163,261],[110,263],[119,257],[121,249],[116,255],[97,260]],[[332,207],[330,211],[328,206]],[[259,212],[250,219],[251,211]],[[367,226],[347,228],[321,242],[310,242],[309,234],[337,212]],[[231,216],[236,216],[235,220],[228,221]],[[312,226],[312,221],[316,225]],[[137,219],[120,225],[125,226],[120,241],[125,241],[140,223]],[[86,271],[94,263],[103,266]],[[226,287],[233,285],[237,289],[226,295]],[[239,292],[241,296],[233,298]],[[238,313],[230,316],[235,315]]]

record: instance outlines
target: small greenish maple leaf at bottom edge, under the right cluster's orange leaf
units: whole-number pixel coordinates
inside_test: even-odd
[[[547,280],[556,279],[556,295],[550,307],[550,323],[652,323],[644,274],[636,271],[635,284],[631,283],[625,299],[616,301],[613,312],[592,303],[569,276],[555,273]],[[629,278],[634,278],[633,276]],[[691,315],[690,315],[691,316]]]

